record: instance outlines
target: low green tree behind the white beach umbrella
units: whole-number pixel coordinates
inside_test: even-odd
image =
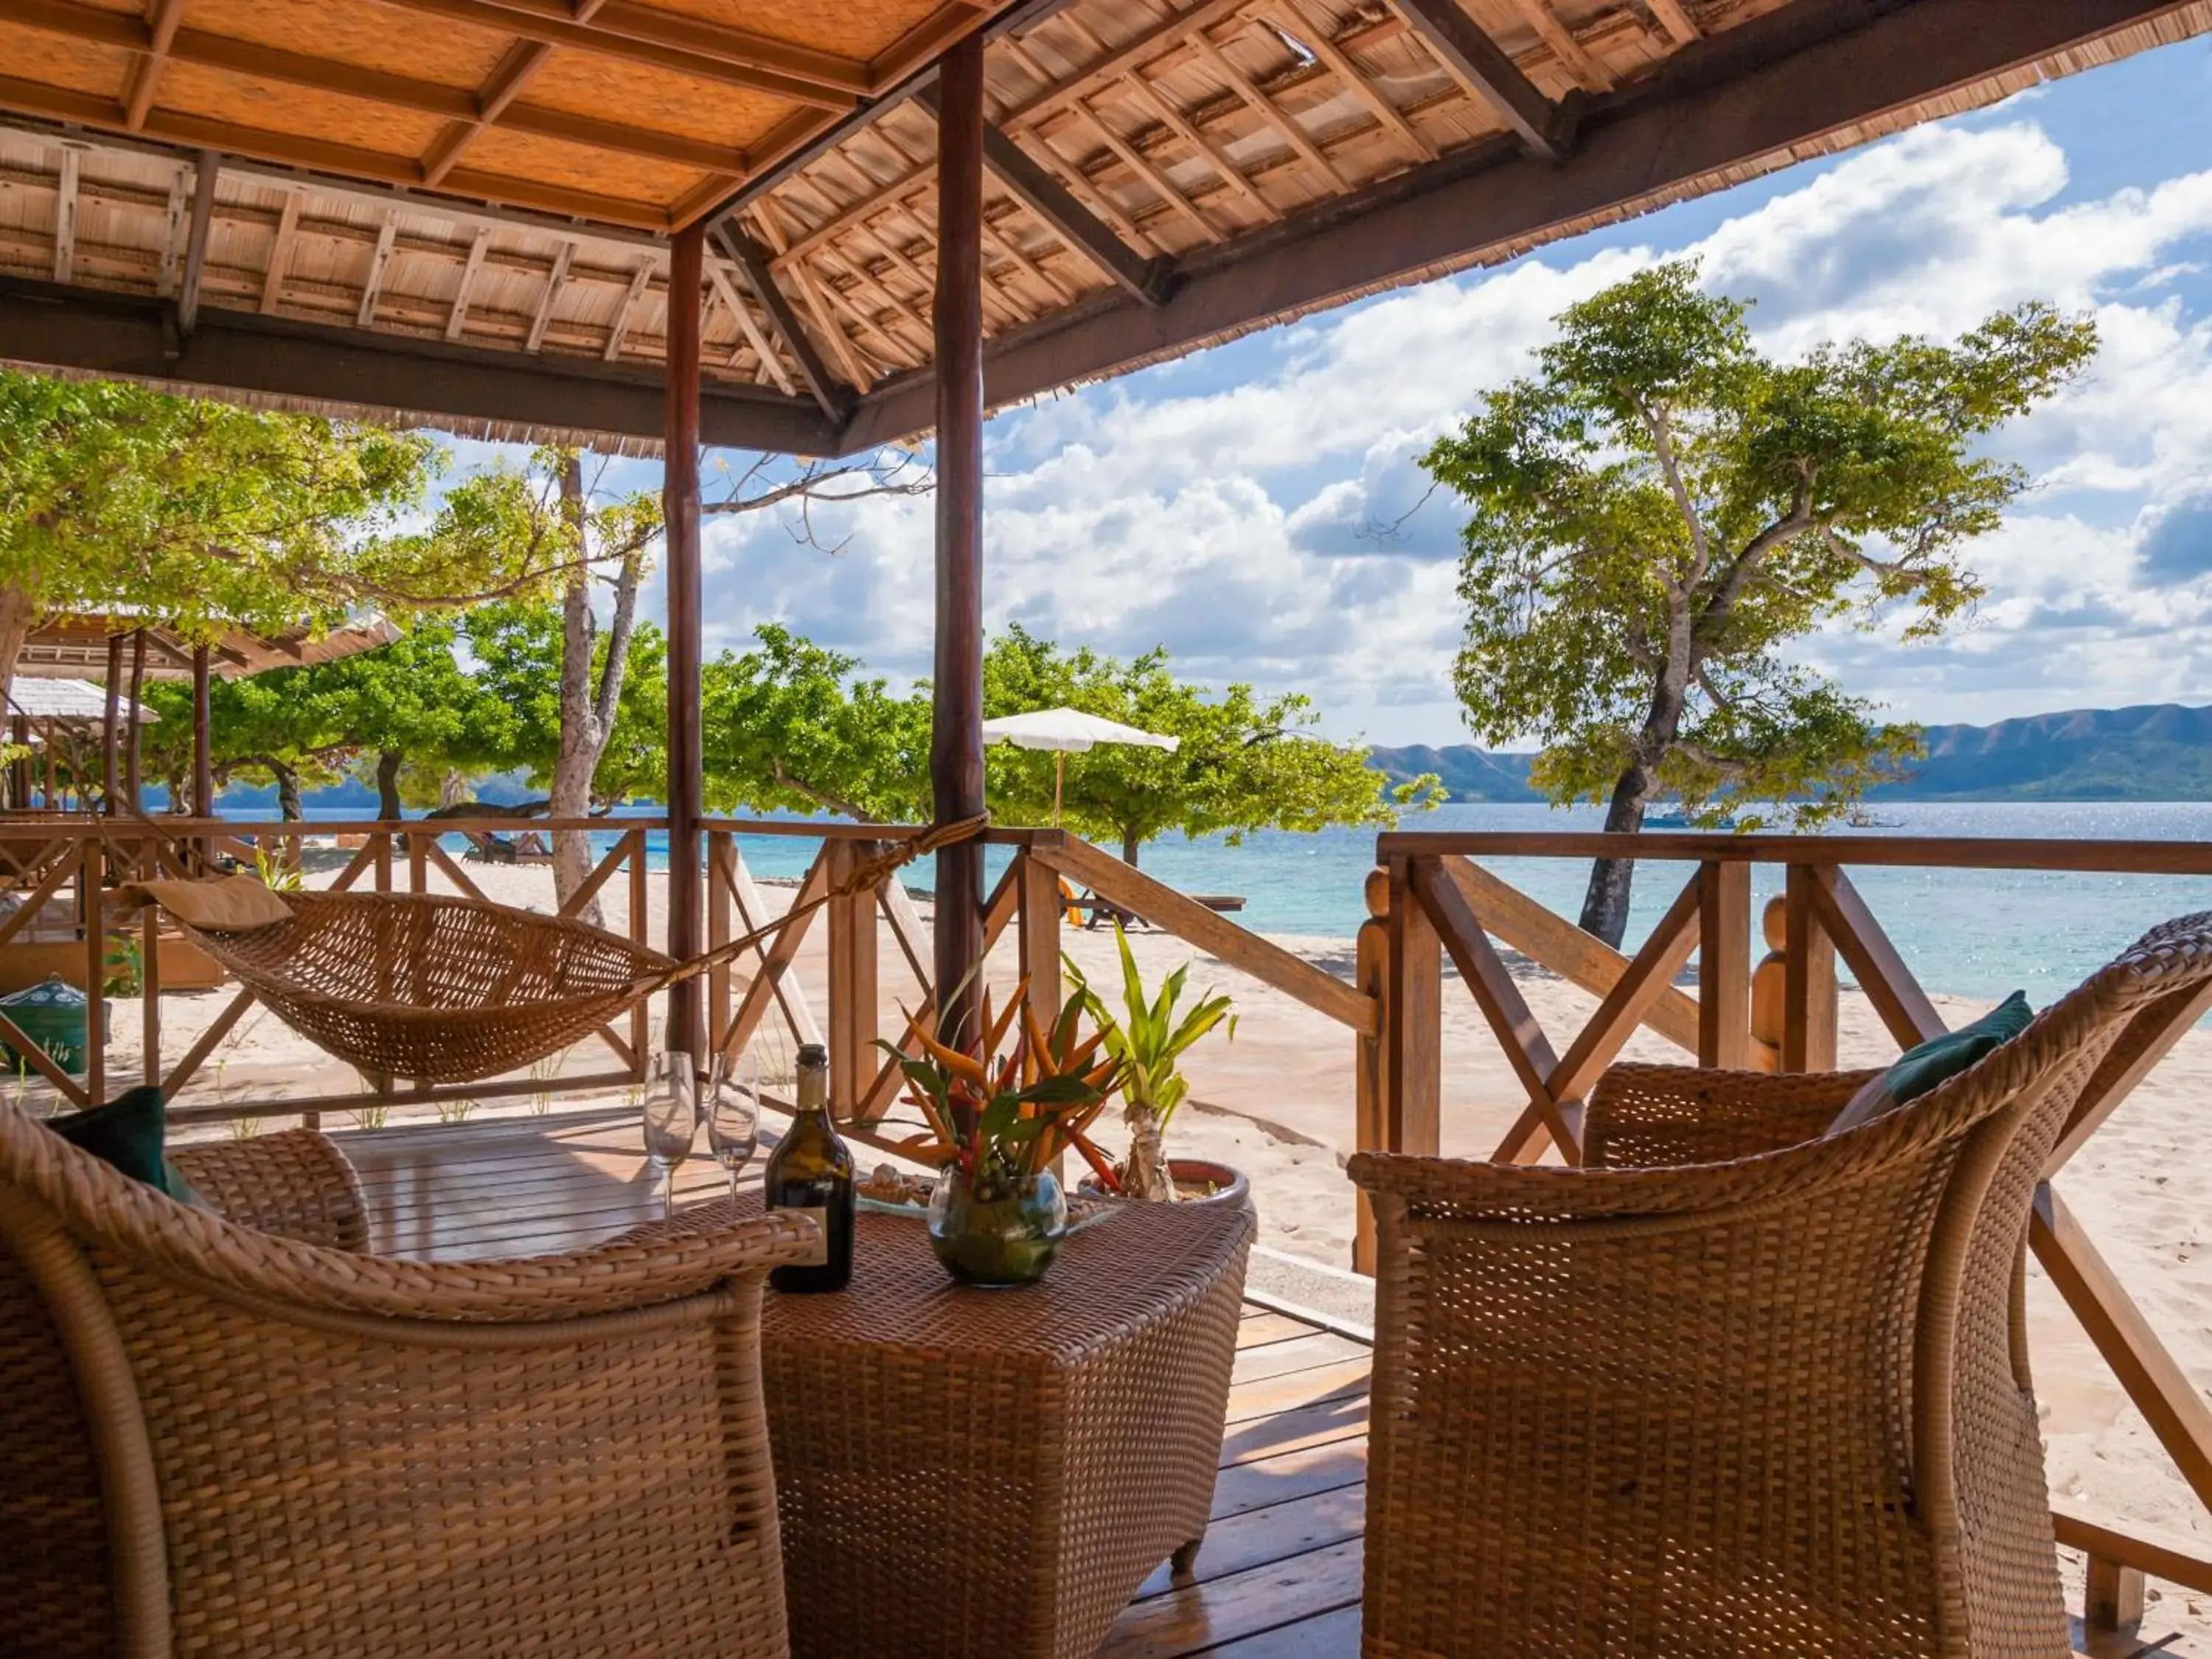
[[[1066,757],[1062,821],[1119,841],[1128,863],[1170,830],[1225,832],[1234,845],[1250,830],[1394,825],[1402,807],[1442,799],[1433,774],[1387,787],[1365,745],[1314,734],[1312,699],[1263,699],[1243,684],[1210,695],[1175,679],[1166,648],[1117,661],[1088,646],[1064,653],[1015,624],[984,653],[982,697],[984,714],[1066,706],[1181,739],[1172,752],[1099,745]],[[1051,754],[995,745],[989,768],[1000,823],[1051,823]]]

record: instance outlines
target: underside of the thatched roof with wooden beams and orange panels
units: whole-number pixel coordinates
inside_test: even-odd
[[[0,0],[0,361],[498,438],[931,418],[987,38],[993,405],[2212,27],[2212,0]]]

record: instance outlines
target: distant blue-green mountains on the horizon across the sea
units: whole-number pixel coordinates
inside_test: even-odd
[[[1537,801],[1528,754],[1473,743],[1376,748],[1394,783],[1436,772],[1453,801]],[[1931,726],[1927,759],[1882,801],[2212,801],[2212,708],[2070,708],[1995,726]]]

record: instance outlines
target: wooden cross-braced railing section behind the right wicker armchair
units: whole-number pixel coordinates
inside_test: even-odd
[[[1635,956],[1608,949],[1484,867],[1498,858],[1597,856],[1632,856],[1641,880],[1663,880],[1661,872],[1688,867]],[[2212,847],[1907,836],[1385,834],[1376,841],[1376,863],[1356,984],[1376,998],[1383,1018],[1358,1048],[1358,1144],[1440,1150],[1442,967],[1449,958],[1520,1091],[1511,1128],[1491,1157],[1528,1164],[1557,1150],[1566,1164],[1579,1164],[1584,1099],[1639,1029],[1686,1051],[1699,1066],[1834,1071],[1840,960],[1900,1046],[1944,1031],[1936,1004],[1847,867],[2212,876]],[[1785,872],[1783,1013],[1772,1044],[1752,1033],[1754,865]],[[1564,1042],[1544,1031],[1498,942],[1597,998],[1579,1031],[1562,1033]],[[1699,958],[1694,998],[1674,984],[1692,951]],[[2181,1478],[2212,1509],[2212,1407],[2053,1188],[2053,1177],[2208,1011],[2212,989],[2172,1009],[2161,1037],[2135,1064],[2099,1073],[2044,1170],[2028,1243]],[[1374,1270],[1374,1230],[1365,1214],[1354,1259]],[[2086,1624],[2093,1632],[2124,1630],[2141,1617],[2143,1573],[2212,1593],[2212,1559],[2201,1551],[2130,1537],[2070,1513],[2053,1515],[2053,1533],[2088,1557]]]

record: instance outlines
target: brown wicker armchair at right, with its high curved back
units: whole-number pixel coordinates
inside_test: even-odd
[[[2148,933],[1911,1106],[1615,1066],[1597,1168],[1363,1155],[1367,1659],[2068,1652],[2024,1237],[2059,1128],[2212,978]]]

